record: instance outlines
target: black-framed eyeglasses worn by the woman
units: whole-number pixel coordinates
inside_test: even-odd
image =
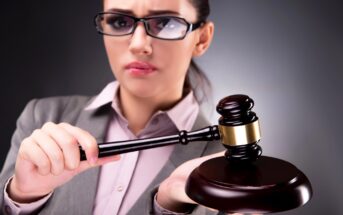
[[[109,36],[132,34],[138,22],[144,23],[147,35],[162,40],[182,40],[189,32],[201,27],[204,23],[188,23],[185,19],[175,16],[136,18],[115,12],[98,13],[94,18],[98,32]]]

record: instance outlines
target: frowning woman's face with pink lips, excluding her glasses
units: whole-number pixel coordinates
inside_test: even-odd
[[[189,23],[197,21],[196,10],[188,0],[104,0],[104,11],[115,10],[139,18],[158,14],[179,16]],[[120,82],[120,90],[125,95],[165,101],[179,99],[182,95],[198,40],[199,30],[187,34],[183,40],[152,38],[146,34],[142,22],[132,35],[104,36],[106,52],[112,71]]]

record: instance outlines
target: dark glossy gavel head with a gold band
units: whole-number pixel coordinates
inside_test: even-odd
[[[246,95],[223,98],[217,105],[221,142],[227,149],[225,157],[232,162],[254,161],[262,149],[258,117],[251,111],[254,101]]]

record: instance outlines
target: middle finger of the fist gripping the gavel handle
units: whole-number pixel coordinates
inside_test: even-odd
[[[74,170],[80,163],[78,140],[63,127],[48,122],[42,130],[48,134],[58,145],[63,153],[65,168]]]

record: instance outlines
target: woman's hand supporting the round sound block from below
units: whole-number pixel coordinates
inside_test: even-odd
[[[223,155],[224,151],[196,158],[187,161],[176,168],[174,172],[160,184],[157,192],[158,204],[170,211],[186,212],[189,208],[189,204],[196,204],[185,192],[188,176],[202,162]]]

